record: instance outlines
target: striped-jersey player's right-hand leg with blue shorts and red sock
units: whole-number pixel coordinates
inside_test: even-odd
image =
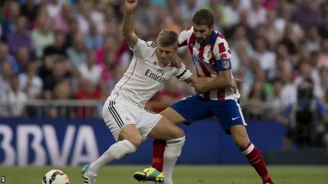
[[[237,100],[217,101],[217,106],[215,102],[210,103],[209,105],[213,107],[213,112],[216,114],[222,128],[226,133],[232,135],[237,147],[247,157],[250,164],[262,178],[263,183],[273,184],[261,152],[249,139],[246,130],[247,124],[245,123],[239,102]]]

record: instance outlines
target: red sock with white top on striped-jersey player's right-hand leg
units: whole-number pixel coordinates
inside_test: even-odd
[[[240,150],[249,160],[250,164],[256,170],[258,175],[262,178],[263,182],[271,181],[271,178],[268,173],[267,166],[265,166],[264,159],[261,155],[261,152],[250,142],[248,146]],[[273,183],[272,181],[269,182]]]

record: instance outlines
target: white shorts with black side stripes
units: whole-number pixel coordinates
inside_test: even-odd
[[[115,101],[106,100],[103,107],[103,119],[111,130],[115,141],[118,141],[120,130],[129,124],[135,124],[143,141],[162,116],[145,109],[128,107]]]

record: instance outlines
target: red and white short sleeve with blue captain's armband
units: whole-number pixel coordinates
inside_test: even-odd
[[[231,69],[231,52],[228,42],[224,38],[217,38],[214,47],[214,57],[216,60],[216,70],[226,71]]]

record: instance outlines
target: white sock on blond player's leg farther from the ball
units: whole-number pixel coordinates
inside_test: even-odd
[[[182,147],[185,144],[186,137],[183,136],[179,139],[171,140],[166,142],[166,147],[163,156],[163,175],[164,175],[164,184],[171,184],[173,169],[178,160],[178,157],[181,154]]]

